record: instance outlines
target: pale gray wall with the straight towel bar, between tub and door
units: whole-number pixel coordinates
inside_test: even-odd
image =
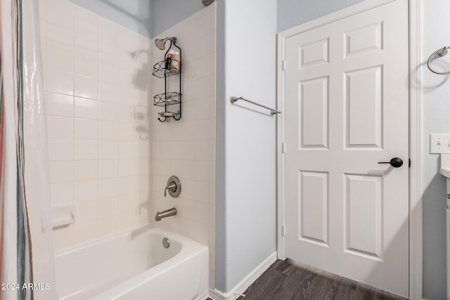
[[[216,289],[229,293],[276,252],[276,117],[229,101],[276,106],[276,0],[217,4]]]

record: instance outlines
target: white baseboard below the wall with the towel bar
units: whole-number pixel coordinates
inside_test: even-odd
[[[241,282],[236,285],[233,289],[231,289],[231,292],[229,293],[223,293],[218,291],[217,289],[210,289],[210,298],[213,300],[235,300],[242,294],[245,289],[248,289],[250,285],[259,278],[259,276],[264,273],[265,270],[271,266],[272,263],[276,261],[276,252],[272,253],[269,257],[264,259],[262,263],[259,264],[255,268],[255,270],[252,270],[252,272],[247,275]]]

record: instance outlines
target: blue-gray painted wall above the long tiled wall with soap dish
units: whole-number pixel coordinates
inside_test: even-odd
[[[69,0],[120,25],[152,37],[150,0]]]

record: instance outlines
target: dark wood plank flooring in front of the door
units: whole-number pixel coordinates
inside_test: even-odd
[[[290,259],[275,261],[243,293],[240,300],[404,300],[338,275],[300,266]]]

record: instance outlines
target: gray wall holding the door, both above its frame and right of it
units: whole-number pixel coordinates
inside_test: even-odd
[[[333,13],[361,0],[278,0],[278,32]],[[450,45],[450,1],[422,1],[423,63]],[[447,59],[450,62],[450,59]],[[446,65],[450,70],[450,63]],[[423,80],[423,298],[446,298],[446,186],[439,155],[430,155],[430,133],[450,133],[450,81],[421,66]]]

